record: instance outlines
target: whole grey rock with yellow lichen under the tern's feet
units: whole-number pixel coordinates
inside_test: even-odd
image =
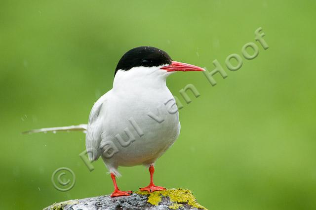
[[[44,210],[199,210],[192,192],[187,189],[167,189],[148,193],[136,191],[130,196],[111,198],[99,196],[53,204]]]

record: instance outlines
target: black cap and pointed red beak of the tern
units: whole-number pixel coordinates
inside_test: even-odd
[[[115,74],[118,70],[128,71],[133,67],[163,66],[160,69],[168,72],[174,71],[205,71],[204,69],[186,63],[172,61],[163,50],[152,46],[140,46],[127,51],[118,61]]]

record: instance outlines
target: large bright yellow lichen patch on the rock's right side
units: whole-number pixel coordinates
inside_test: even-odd
[[[163,191],[155,191],[152,193],[148,193],[147,191],[136,191],[136,193],[141,194],[141,195],[149,195],[147,202],[156,206],[161,201],[161,196],[165,196],[165,197],[169,197],[170,201],[175,202],[176,204],[184,203],[184,204],[189,204],[190,206],[195,207],[197,209],[207,210],[205,207],[197,203],[196,198],[192,195],[192,192],[188,189],[181,189],[181,188],[167,189]]]

